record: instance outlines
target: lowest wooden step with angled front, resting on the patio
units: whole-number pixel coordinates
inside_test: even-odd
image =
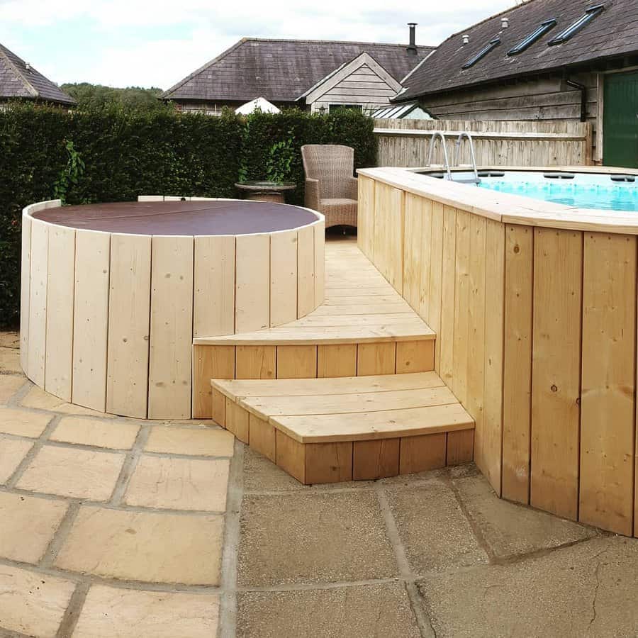
[[[474,420],[434,372],[211,381],[213,419],[302,483],[471,461]]]

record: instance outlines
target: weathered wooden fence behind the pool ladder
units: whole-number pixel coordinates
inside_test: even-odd
[[[579,166],[592,164],[593,130],[581,122],[479,122],[453,120],[376,120],[378,166],[427,165],[435,130],[449,134],[447,152],[454,162],[454,146],[461,131],[474,137],[479,166]],[[443,163],[440,142],[433,163]],[[461,147],[460,164],[469,164],[469,146]]]

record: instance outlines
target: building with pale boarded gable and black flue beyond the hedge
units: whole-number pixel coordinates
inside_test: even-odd
[[[181,111],[206,113],[259,96],[279,108],[375,111],[389,104],[403,78],[434,50],[415,45],[414,27],[408,45],[242,38],[161,99]]]

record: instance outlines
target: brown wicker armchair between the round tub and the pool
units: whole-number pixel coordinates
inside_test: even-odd
[[[306,172],[306,206],[325,215],[325,227],[357,225],[354,149],[337,144],[301,147]]]

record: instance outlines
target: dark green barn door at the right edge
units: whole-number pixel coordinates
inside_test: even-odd
[[[603,164],[638,168],[638,73],[605,77]]]

